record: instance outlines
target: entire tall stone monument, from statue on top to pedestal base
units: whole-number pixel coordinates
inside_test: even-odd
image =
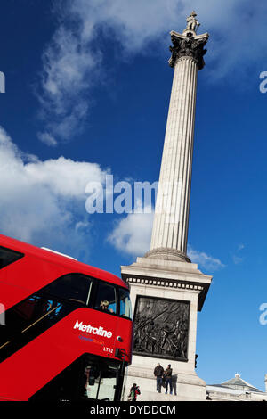
[[[139,400],[205,400],[206,382],[195,372],[197,315],[212,276],[187,256],[190,183],[198,70],[208,34],[197,35],[196,13],[182,34],[170,33],[169,64],[174,80],[166,123],[150,251],[128,267],[134,308],[134,357],[128,368],[125,398],[134,382]],[[154,367],[173,368],[173,395],[156,392]]]

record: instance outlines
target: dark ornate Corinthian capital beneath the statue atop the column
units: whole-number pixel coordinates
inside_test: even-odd
[[[169,64],[174,67],[175,62],[181,57],[190,57],[197,62],[198,70],[203,69],[205,62],[203,56],[206,54],[208,34],[195,35],[191,30],[184,30],[182,34],[171,32],[171,39],[174,46],[170,46],[172,53]]]

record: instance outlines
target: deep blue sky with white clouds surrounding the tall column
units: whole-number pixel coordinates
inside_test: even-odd
[[[0,230],[120,275],[150,246],[148,215],[85,211],[85,185],[158,180],[173,78],[169,31],[208,31],[198,98],[190,254],[214,275],[198,375],[263,390],[267,325],[267,4],[2,0]],[[256,34],[256,35],[255,35]]]

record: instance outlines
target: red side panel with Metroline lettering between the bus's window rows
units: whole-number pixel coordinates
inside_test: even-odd
[[[90,325],[90,332],[82,330]],[[0,397],[28,400],[84,353],[117,359],[115,350],[120,348],[130,362],[132,328],[130,320],[78,308],[0,364]],[[109,337],[101,336],[103,331]]]

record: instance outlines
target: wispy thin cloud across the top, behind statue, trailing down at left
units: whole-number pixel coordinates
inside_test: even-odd
[[[125,55],[167,54],[169,31],[182,31],[197,9],[199,32],[210,32],[206,79],[234,78],[255,62],[264,63],[267,4],[249,0],[64,0],[58,29],[44,51],[40,115],[55,141],[69,140],[83,128],[92,104],[88,92],[109,71],[102,56],[111,42]],[[101,32],[100,30],[101,29]],[[256,35],[255,35],[256,34]],[[99,42],[99,38],[105,42]],[[252,53],[253,52],[253,53]],[[54,145],[53,142],[46,142]]]

